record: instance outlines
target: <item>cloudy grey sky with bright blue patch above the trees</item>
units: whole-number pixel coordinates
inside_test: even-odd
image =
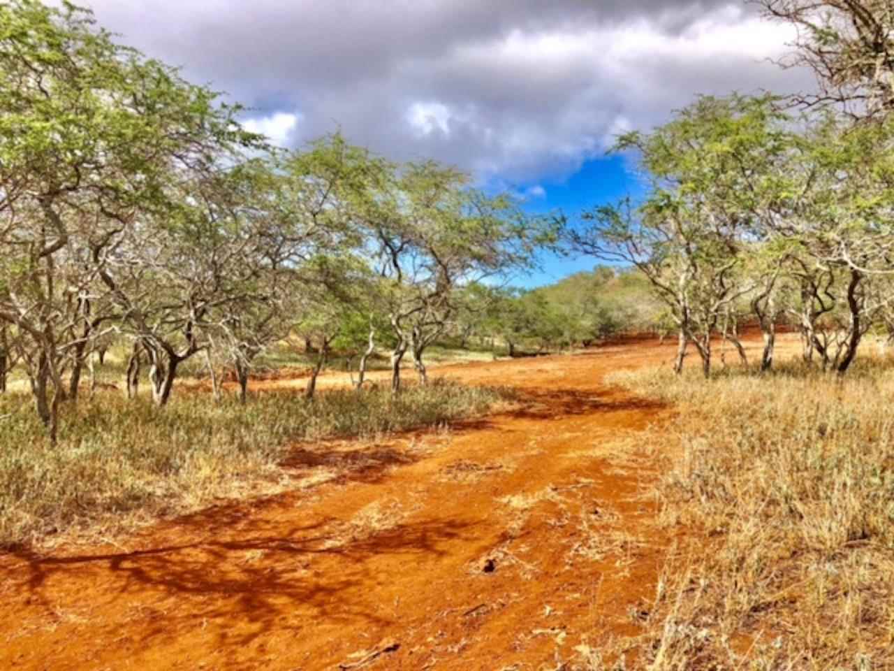
[[[85,4],[82,0],[79,4]],[[789,28],[744,0],[87,0],[100,25],[300,147],[341,130],[577,216],[637,190],[614,138],[698,94],[790,93]],[[544,259],[520,285],[592,268]]]

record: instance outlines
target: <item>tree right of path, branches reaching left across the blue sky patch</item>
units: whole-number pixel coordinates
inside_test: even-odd
[[[705,97],[652,133],[622,136],[616,149],[637,153],[645,197],[595,208],[567,233],[573,250],[648,278],[679,329],[677,372],[692,343],[710,374],[718,324],[755,288],[743,262],[787,147],[776,115],[772,98]]]

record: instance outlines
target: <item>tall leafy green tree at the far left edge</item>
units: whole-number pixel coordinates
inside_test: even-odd
[[[98,280],[136,213],[163,209],[218,141],[252,139],[214,101],[72,4],[0,5],[0,320],[54,441],[65,370],[114,319]]]

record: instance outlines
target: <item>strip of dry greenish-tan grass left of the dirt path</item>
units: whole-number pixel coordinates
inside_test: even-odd
[[[304,487],[281,466],[294,441],[440,427],[486,412],[506,394],[439,381],[397,398],[378,389],[312,402],[279,393],[240,406],[194,394],[157,409],[101,393],[65,409],[55,447],[28,396],[0,396],[0,547],[75,531],[102,537],[219,497]]]

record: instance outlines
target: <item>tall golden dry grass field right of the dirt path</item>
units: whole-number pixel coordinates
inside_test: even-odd
[[[685,530],[685,549],[624,646],[637,667],[894,667],[890,363],[616,376],[679,408],[651,442],[656,523]]]

